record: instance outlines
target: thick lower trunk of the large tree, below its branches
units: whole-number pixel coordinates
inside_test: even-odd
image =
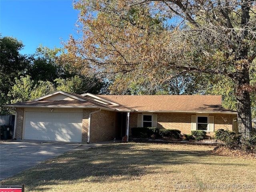
[[[239,78],[240,77],[240,78]],[[236,99],[238,113],[238,132],[241,134],[241,142],[245,144],[252,132],[252,116],[250,92],[246,86],[250,84],[249,72],[244,70],[243,75],[238,75],[236,79]]]

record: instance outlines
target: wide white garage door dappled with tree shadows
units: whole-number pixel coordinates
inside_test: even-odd
[[[79,112],[26,112],[24,138],[82,142],[82,117]]]

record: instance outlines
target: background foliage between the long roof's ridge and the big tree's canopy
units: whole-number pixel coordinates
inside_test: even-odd
[[[207,79],[207,80],[206,80]],[[132,95],[179,95],[206,94],[212,90],[211,77],[206,74],[177,74],[172,79],[150,79],[147,76],[137,77],[130,74],[117,75],[109,86],[111,94]]]

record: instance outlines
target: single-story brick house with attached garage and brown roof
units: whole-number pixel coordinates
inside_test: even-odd
[[[178,129],[182,134],[234,130],[237,112],[221,96],[78,95],[63,91],[5,105],[15,108],[14,137],[27,140],[98,142],[131,135],[134,127]]]

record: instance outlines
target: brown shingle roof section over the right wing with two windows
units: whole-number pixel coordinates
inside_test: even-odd
[[[126,108],[138,111],[234,112],[222,108],[216,95],[100,95]]]

